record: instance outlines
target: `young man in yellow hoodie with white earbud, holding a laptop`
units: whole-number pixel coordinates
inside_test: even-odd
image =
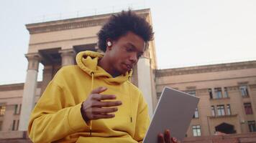
[[[129,79],[152,27],[122,11],[98,37],[105,54],[80,52],[77,65],[64,66],[48,84],[29,120],[33,142],[142,142],[150,123],[147,103]],[[170,142],[170,133],[159,140]]]

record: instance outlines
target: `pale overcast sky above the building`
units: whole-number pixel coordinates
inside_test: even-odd
[[[25,24],[128,6],[151,9],[159,69],[256,60],[255,0],[1,0],[0,84],[26,78]]]

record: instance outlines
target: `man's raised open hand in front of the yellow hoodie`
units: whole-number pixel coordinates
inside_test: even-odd
[[[94,119],[113,118],[114,114],[110,113],[116,112],[118,110],[116,106],[122,104],[121,101],[103,102],[103,100],[116,99],[115,95],[100,94],[106,91],[106,89],[106,87],[94,89],[86,101],[83,102],[81,114],[87,124]]]

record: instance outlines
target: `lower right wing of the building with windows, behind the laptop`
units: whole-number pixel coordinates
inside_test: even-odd
[[[157,97],[168,86],[200,98],[188,137],[256,131],[256,61],[163,69],[155,75]]]

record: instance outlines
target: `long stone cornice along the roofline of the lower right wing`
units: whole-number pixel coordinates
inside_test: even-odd
[[[174,69],[157,69],[156,77],[168,77],[175,75],[183,74],[200,74],[207,72],[216,72],[216,71],[231,71],[237,69],[253,69],[256,68],[256,61],[243,61],[237,63],[228,63],[228,64],[213,64],[206,66],[191,66],[183,68],[174,68]]]

